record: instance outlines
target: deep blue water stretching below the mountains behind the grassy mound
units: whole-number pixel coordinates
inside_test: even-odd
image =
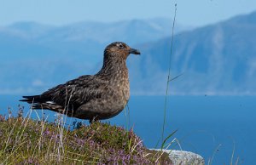
[[[0,114],[7,114],[8,106],[17,110],[19,99],[0,95]],[[123,111],[107,122],[133,128],[144,145],[152,148],[161,137],[164,103],[164,96],[131,96],[127,115]],[[55,119],[55,113],[47,111],[47,115],[49,121]],[[238,157],[241,164],[255,164],[256,96],[170,96],[165,137],[176,129],[171,140],[177,138],[182,150],[194,151],[206,162],[215,154],[212,164],[230,164],[235,151],[233,164]],[[170,148],[180,147],[175,143]]]

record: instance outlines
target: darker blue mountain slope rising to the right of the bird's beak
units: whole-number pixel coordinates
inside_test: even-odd
[[[174,36],[171,94],[256,94],[256,12]],[[132,87],[164,94],[171,37],[145,43]],[[140,71],[137,73],[136,71]],[[139,82],[140,84],[138,85]]]

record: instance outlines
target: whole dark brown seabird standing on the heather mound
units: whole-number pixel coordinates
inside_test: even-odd
[[[126,59],[141,54],[123,42],[110,43],[103,53],[102,69],[49,88],[42,94],[22,96],[32,109],[50,110],[91,122],[115,117],[130,99]]]

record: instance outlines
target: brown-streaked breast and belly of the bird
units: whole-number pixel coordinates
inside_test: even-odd
[[[130,83],[127,69],[116,70],[108,74],[101,98],[90,100],[77,111],[78,117],[107,119],[123,111],[130,98]],[[84,115],[85,114],[85,115]]]

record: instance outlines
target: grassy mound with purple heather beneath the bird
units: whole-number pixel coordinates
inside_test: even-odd
[[[0,162],[3,164],[171,164],[168,154],[149,151],[133,130],[93,122],[63,127],[55,122],[0,115]],[[61,118],[62,117],[62,118]],[[73,128],[72,128],[73,127]]]

